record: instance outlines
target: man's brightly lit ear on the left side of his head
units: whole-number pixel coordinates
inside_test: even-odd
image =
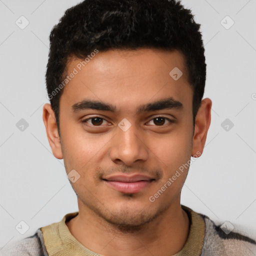
[[[51,151],[56,158],[62,159],[63,155],[61,151],[60,137],[57,130],[56,118],[54,111],[52,110],[49,103],[43,105],[42,119],[46,129]]]

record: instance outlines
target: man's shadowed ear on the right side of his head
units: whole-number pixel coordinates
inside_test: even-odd
[[[204,98],[201,100],[201,105],[198,108],[197,114],[195,116],[193,147],[191,156],[198,155],[199,157],[202,154],[208,128],[210,126],[211,104],[212,102],[209,98]]]

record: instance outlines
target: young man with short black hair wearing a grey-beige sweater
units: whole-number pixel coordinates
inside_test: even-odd
[[[50,34],[43,122],[79,211],[3,255],[255,255],[252,237],[180,205],[210,125],[205,74],[199,24],[180,2],[68,9]]]

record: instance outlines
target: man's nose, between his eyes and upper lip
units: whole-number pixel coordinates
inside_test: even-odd
[[[110,147],[110,158],[117,164],[131,166],[135,161],[145,161],[148,157],[148,148],[143,141],[143,136],[135,124],[126,131],[117,127]]]

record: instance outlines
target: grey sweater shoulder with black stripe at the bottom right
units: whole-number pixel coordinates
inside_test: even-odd
[[[236,230],[230,222],[216,224],[206,215],[200,214],[205,221],[205,235],[201,256],[232,255],[252,256],[256,254],[255,234]]]

